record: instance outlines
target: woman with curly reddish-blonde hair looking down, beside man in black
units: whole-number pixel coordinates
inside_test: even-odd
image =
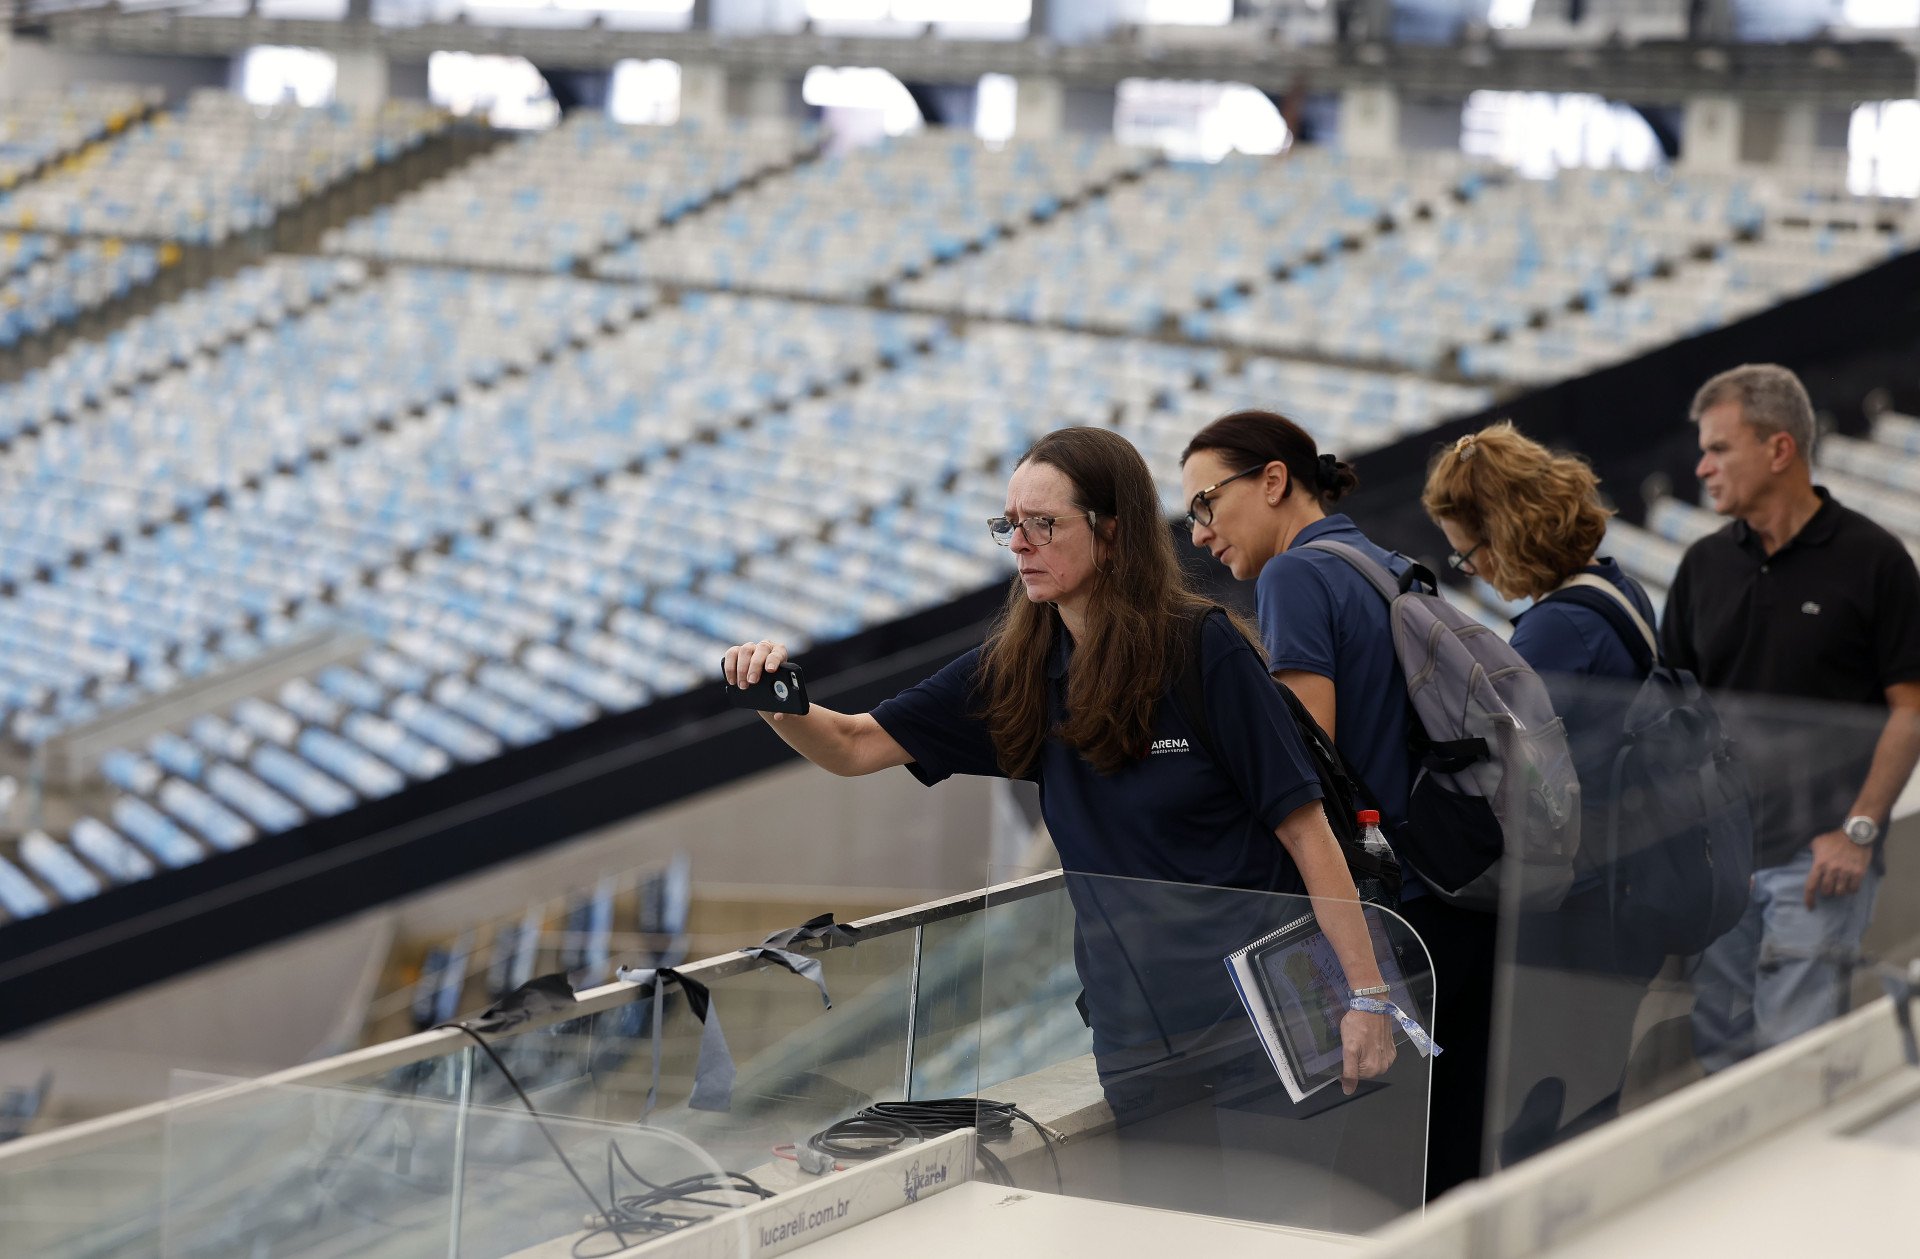
[[[1513,1000],[1513,1040],[1524,1044],[1509,1046],[1517,1105],[1501,1119],[1500,1144],[1501,1163],[1511,1163],[1619,1111],[1634,1017],[1665,960],[1615,931],[1605,869],[1609,770],[1655,656],[1655,610],[1640,582],[1599,555],[1613,511],[1594,470],[1509,422],[1442,449],[1421,501],[1453,547],[1455,570],[1503,599],[1532,599],[1515,618],[1513,649],[1548,683],[1580,775],[1572,891],[1551,914],[1523,917],[1513,948],[1519,975],[1540,979]],[[1584,593],[1567,593],[1576,587]],[[1603,612],[1596,593],[1617,610]]]

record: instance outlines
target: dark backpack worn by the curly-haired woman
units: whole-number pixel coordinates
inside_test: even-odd
[[[1753,812],[1747,777],[1693,674],[1661,664],[1653,630],[1597,578],[1548,595],[1597,612],[1644,674],[1605,783],[1596,854],[1619,938],[1697,954],[1747,910]],[[1624,843],[1622,843],[1624,841]]]

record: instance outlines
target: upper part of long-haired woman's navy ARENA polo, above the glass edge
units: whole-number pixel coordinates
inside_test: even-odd
[[[922,783],[952,773],[1006,777],[979,716],[979,654],[970,651],[874,708]],[[1114,773],[1100,773],[1060,739],[1041,745],[1029,777],[1041,787],[1060,864],[1094,875],[1302,892],[1300,871],[1273,831],[1321,798],[1313,762],[1260,654],[1223,618],[1208,618],[1200,658],[1212,747],[1223,764],[1194,741],[1171,683],[1154,710],[1152,752]],[[1058,631],[1048,660],[1054,722],[1066,718],[1071,660],[1071,639]]]

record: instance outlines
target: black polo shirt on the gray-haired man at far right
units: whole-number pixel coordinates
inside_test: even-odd
[[[1780,551],[1736,520],[1695,541],[1661,649],[1716,693],[1755,785],[1763,866],[1839,829],[1885,725],[1920,681],[1920,572],[1899,537],[1826,489]]]

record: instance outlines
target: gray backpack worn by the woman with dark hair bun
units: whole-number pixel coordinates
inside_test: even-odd
[[[1498,633],[1438,593],[1413,564],[1394,574],[1338,541],[1338,555],[1388,603],[1394,656],[1407,676],[1413,793],[1392,844],[1448,904],[1551,910],[1572,885],[1580,781],[1548,687]]]

